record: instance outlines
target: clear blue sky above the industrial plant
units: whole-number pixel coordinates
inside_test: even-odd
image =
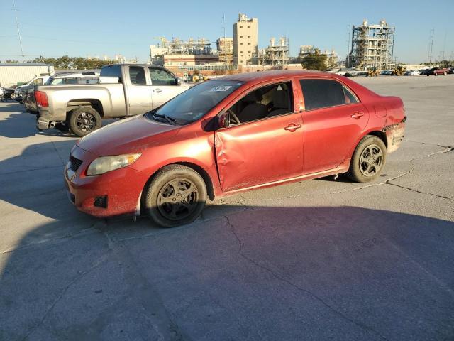
[[[0,0],[0,60],[21,60],[13,0]],[[454,60],[454,0],[406,1],[101,1],[16,0],[26,60],[45,57],[121,54],[145,63],[153,37],[208,38],[233,36],[238,13],[258,18],[259,48],[270,38],[288,36],[291,55],[300,45],[347,53],[351,25],[384,18],[396,28],[394,57],[402,63],[428,59],[434,29],[433,60]],[[216,44],[212,45],[216,48]]]

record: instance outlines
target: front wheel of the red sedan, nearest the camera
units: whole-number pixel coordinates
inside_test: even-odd
[[[199,173],[186,166],[170,165],[161,168],[145,187],[143,207],[157,224],[175,227],[194,222],[204,210],[206,196]]]

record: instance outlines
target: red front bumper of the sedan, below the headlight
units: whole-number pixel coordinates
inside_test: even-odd
[[[125,167],[101,175],[84,175],[96,156],[82,148],[74,147],[72,156],[82,160],[77,171],[65,168],[68,197],[78,210],[95,217],[135,214],[140,205],[140,195],[148,176],[133,168]],[[95,205],[99,197],[106,198],[106,207]]]

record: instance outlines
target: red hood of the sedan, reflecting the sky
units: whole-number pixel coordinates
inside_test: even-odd
[[[79,140],[77,146],[97,156],[137,153],[174,136],[181,128],[138,115],[93,131]]]

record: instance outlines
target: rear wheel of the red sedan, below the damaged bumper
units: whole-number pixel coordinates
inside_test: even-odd
[[[380,176],[386,164],[387,150],[377,136],[364,136],[355,148],[347,176],[357,183],[367,183]]]

